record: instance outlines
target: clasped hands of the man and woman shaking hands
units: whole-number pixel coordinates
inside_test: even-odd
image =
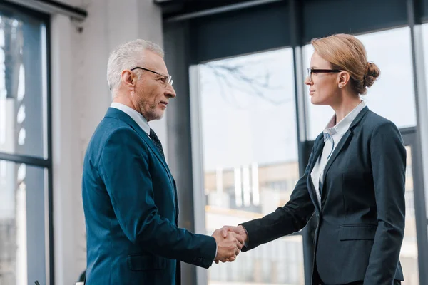
[[[221,229],[216,229],[212,237],[217,242],[217,255],[214,259],[216,264],[219,261],[234,261],[245,242],[248,242],[247,231],[241,225],[238,227],[224,226]]]

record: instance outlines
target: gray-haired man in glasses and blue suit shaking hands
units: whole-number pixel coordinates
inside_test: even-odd
[[[243,244],[237,234],[178,228],[175,181],[148,125],[175,98],[163,51],[148,41],[124,43],[107,69],[113,103],[83,163],[86,284],[180,284],[180,261],[205,268],[233,261]]]

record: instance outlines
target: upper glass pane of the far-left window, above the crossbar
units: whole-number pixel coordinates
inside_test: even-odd
[[[0,152],[46,158],[44,24],[4,13],[0,6]]]

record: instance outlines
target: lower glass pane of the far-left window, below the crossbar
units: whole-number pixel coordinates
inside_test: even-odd
[[[0,284],[46,284],[44,190],[43,168],[0,160]]]

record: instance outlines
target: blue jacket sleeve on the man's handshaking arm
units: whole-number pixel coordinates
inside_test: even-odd
[[[175,227],[158,214],[148,155],[133,130],[121,128],[103,145],[98,171],[126,237],[146,251],[208,268],[215,259],[213,237]]]

